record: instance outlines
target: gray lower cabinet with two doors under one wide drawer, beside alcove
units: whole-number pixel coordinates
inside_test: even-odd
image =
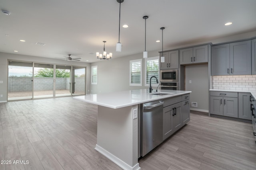
[[[238,93],[210,92],[210,114],[238,118]]]

